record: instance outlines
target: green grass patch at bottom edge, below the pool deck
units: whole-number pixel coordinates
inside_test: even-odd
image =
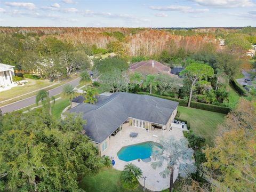
[[[120,175],[121,171],[105,168],[100,170],[98,174],[86,175],[81,181],[80,187],[92,192],[142,192],[141,186],[133,190],[124,189],[120,181]]]

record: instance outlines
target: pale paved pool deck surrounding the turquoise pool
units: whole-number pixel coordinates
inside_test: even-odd
[[[131,138],[130,137],[131,132],[138,132],[139,134],[136,138]],[[124,166],[128,163],[132,163],[140,167],[140,169],[143,172],[143,176],[147,177],[145,182],[146,184],[145,187],[152,191],[161,191],[163,189],[170,187],[170,177],[162,178],[161,175],[159,175],[159,172],[163,171],[165,166],[154,170],[151,167],[151,163],[154,161],[153,159],[151,162],[148,162],[148,163],[145,163],[142,161],[138,162],[138,159],[130,162],[125,162],[118,158],[117,153],[124,146],[134,145],[136,143],[141,143],[146,141],[159,142],[161,138],[163,137],[167,138],[167,137],[170,137],[171,135],[173,135],[177,139],[183,137],[182,130],[179,128],[173,128],[172,130],[155,129],[154,131],[146,131],[145,129],[133,127],[133,126],[130,126],[129,124],[124,124],[122,126],[122,131],[119,131],[115,135],[115,137],[110,138],[109,146],[105,151],[103,151],[103,155],[113,157],[116,162],[113,167],[120,171],[123,171]],[[174,170],[173,176],[175,181],[178,177],[177,168]],[[142,179],[139,179],[139,182],[142,186],[144,185]]]

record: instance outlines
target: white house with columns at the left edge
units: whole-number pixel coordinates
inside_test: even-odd
[[[14,66],[0,63],[0,87],[13,85],[12,76],[14,76]]]

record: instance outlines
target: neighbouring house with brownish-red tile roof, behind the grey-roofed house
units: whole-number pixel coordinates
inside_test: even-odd
[[[171,68],[163,65],[161,62],[155,60],[147,60],[135,62],[129,67],[130,72],[139,72],[142,74],[168,74],[172,75]]]

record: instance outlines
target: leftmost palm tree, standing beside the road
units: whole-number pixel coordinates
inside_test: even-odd
[[[51,101],[55,103],[55,98],[53,96],[49,97],[49,93],[46,90],[40,90],[36,95],[36,105],[39,105],[39,102],[42,102],[43,107],[49,111],[49,114],[52,115]]]

